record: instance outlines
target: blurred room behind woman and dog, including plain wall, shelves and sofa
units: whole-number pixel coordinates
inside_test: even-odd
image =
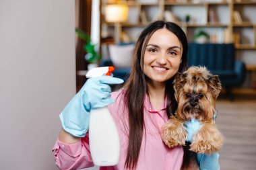
[[[256,169],[255,15],[254,0],[0,0],[0,169],[57,169],[59,114],[86,72],[114,65],[126,79],[135,41],[156,19],[179,24],[189,65],[222,81],[221,169]]]

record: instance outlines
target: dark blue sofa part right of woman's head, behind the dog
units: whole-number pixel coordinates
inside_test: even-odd
[[[245,64],[236,59],[234,44],[189,43],[189,66],[205,66],[218,75],[222,87],[232,99],[231,88],[239,87],[245,79]]]

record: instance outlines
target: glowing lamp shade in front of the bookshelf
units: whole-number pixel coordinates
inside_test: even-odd
[[[106,5],[106,22],[126,22],[128,7],[126,5]]]

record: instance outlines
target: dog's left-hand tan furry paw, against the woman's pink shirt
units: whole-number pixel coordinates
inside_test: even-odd
[[[187,133],[182,122],[170,120],[162,127],[162,140],[169,147],[182,146],[185,144]]]

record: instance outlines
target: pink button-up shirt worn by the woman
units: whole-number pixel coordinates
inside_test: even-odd
[[[119,96],[119,97],[118,97]],[[125,169],[126,150],[128,146],[129,128],[127,111],[123,105],[122,90],[111,93],[115,103],[108,106],[117,128],[121,144],[121,155],[119,163],[113,167],[100,167],[100,170]],[[183,163],[183,148],[178,146],[168,148],[162,142],[160,129],[164,122],[168,120],[166,115],[166,101],[162,109],[157,111],[150,103],[148,96],[144,101],[144,122],[146,132],[143,133],[141,150],[136,169],[143,170],[180,170]],[[75,144],[65,144],[59,140],[53,147],[55,150],[55,163],[59,169],[83,169],[94,166],[90,156],[88,133],[81,141]]]

